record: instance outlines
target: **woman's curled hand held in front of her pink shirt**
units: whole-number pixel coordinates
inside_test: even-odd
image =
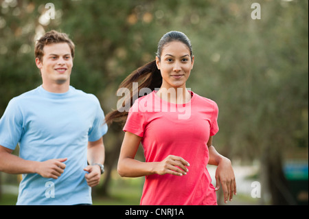
[[[159,175],[173,174],[176,176],[183,176],[189,171],[186,166],[188,167],[190,164],[182,157],[168,155],[163,161],[155,164],[154,170],[155,173]]]

